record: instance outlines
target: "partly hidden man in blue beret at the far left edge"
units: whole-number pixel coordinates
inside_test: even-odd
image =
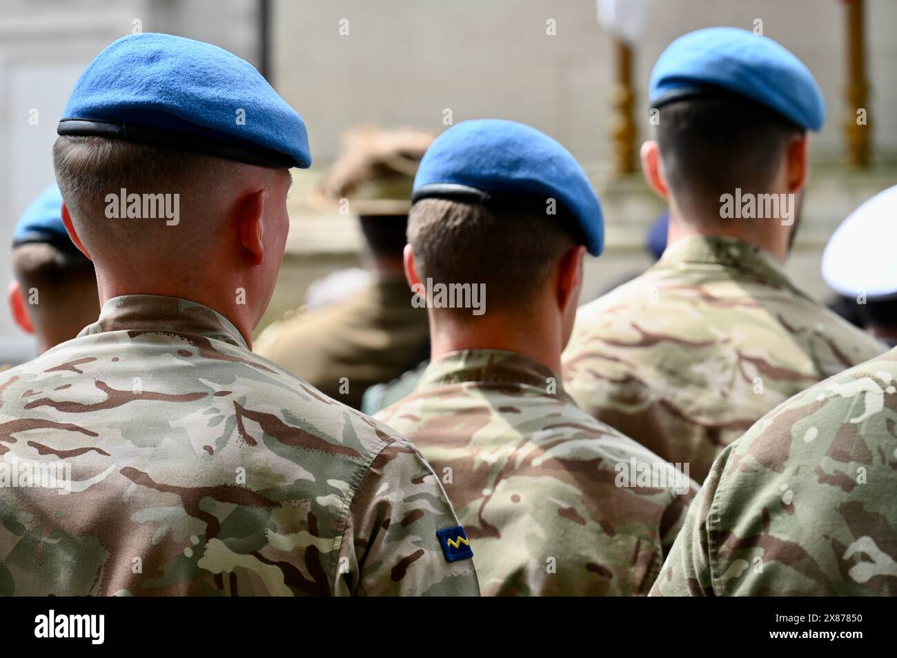
[[[100,315],[93,264],[62,223],[62,195],[48,186],[13,231],[8,301],[15,324],[33,333],[38,353],[74,338]]]

